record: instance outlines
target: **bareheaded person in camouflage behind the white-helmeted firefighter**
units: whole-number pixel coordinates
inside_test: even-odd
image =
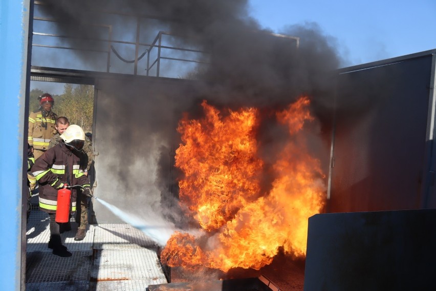
[[[51,138],[49,143],[49,149],[56,146],[56,144],[59,143],[61,140],[60,135],[66,131],[66,129],[70,126],[70,121],[67,117],[60,116],[56,119],[55,128],[57,133]],[[91,140],[85,135],[85,144],[83,146],[83,149],[80,153],[80,165],[81,169],[83,170],[84,174],[88,176],[88,172],[91,167],[91,163],[94,159],[94,154],[92,151],[92,142]],[[79,222],[79,227],[77,229],[76,236],[74,237],[74,240],[83,240],[86,236],[86,225],[88,224],[88,198],[86,196],[81,195],[81,190],[78,190],[78,202],[80,202],[80,216],[76,218],[76,221]],[[79,214],[78,213],[78,214]],[[71,224],[70,222],[63,223],[60,225],[60,233],[71,231]]]

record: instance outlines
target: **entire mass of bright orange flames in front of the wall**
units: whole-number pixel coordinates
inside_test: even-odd
[[[175,233],[161,253],[169,266],[195,269],[259,269],[273,260],[280,247],[294,256],[306,256],[308,218],[324,205],[324,175],[318,159],[307,150],[304,123],[314,118],[310,100],[300,97],[277,112],[289,139],[276,153],[274,180],[269,193],[260,192],[264,162],[257,155],[258,111],[245,108],[220,112],[203,101],[205,117],[179,123],[182,144],[176,167],[185,174],[180,204],[203,230],[194,237]]]

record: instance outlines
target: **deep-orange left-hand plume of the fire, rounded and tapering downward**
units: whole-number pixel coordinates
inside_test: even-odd
[[[176,167],[185,173],[179,182],[180,201],[207,231],[224,225],[259,192],[256,174],[263,162],[256,157],[255,109],[221,118],[203,101],[201,120],[181,120],[182,142]]]

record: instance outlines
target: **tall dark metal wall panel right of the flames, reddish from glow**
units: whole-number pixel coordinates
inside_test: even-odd
[[[339,75],[330,212],[420,207],[431,59]]]

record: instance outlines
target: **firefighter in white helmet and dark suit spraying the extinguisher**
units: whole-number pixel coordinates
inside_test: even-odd
[[[57,191],[68,185],[81,185],[85,188],[83,195],[91,197],[90,182],[80,168],[80,151],[85,142],[83,130],[72,124],[60,135],[61,141],[47,150],[32,167],[32,174],[39,183],[39,209],[50,216],[49,248],[60,257],[72,254],[62,245],[59,224],[55,221],[57,209]],[[72,212],[76,211],[76,189],[71,189]]]

